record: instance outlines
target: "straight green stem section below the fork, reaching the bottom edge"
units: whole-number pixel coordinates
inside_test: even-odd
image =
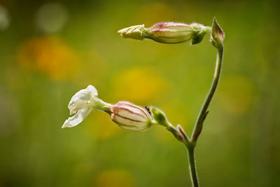
[[[200,186],[197,179],[197,169],[195,166],[195,146],[186,146],[188,150],[188,162],[190,167],[190,178],[193,183],[193,187]]]

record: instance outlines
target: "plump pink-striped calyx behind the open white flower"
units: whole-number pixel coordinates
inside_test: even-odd
[[[111,106],[111,120],[126,130],[141,131],[151,126],[151,115],[146,109],[130,102]]]

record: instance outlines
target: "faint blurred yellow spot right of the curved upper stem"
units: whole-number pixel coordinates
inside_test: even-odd
[[[253,83],[244,76],[222,78],[217,99],[230,113],[245,113],[250,108],[254,96]]]

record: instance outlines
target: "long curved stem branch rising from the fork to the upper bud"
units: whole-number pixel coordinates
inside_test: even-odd
[[[208,95],[207,95],[204,103],[202,104],[202,109],[200,109],[200,113],[197,116],[195,128],[193,130],[192,137],[190,138],[190,141],[194,142],[194,143],[197,141],[197,138],[200,136],[200,132],[202,131],[203,122],[208,113],[208,111],[207,111],[208,106],[211,103],[214,93],[216,92],[216,89],[218,86],[218,81],[221,76],[221,67],[222,67],[222,62],[223,62],[223,45],[218,46],[217,52],[218,52],[218,54],[217,54],[216,68],[215,68],[212,85],[211,85],[211,88],[208,92]]]

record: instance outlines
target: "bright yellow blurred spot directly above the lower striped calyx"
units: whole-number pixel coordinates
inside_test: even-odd
[[[151,101],[162,95],[167,88],[167,81],[158,71],[148,67],[134,67],[120,71],[112,77],[114,95],[117,99],[133,102]]]

